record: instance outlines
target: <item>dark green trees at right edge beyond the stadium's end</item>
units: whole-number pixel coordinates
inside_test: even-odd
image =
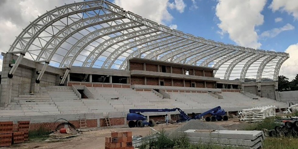
[[[296,77],[289,81],[289,78],[286,76],[278,76],[278,91],[297,91],[298,90],[298,74]]]

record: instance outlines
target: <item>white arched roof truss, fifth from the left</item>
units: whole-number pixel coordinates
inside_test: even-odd
[[[122,46],[118,47],[116,50],[113,51],[112,54],[106,59],[106,61],[102,64],[104,68],[110,69],[114,62],[118,59],[118,57],[122,56],[123,53],[125,53],[127,50],[130,50],[132,48],[154,42],[157,40],[165,39],[168,37],[171,37],[172,35],[169,35],[167,33],[160,33],[153,36],[148,36],[146,38],[142,38],[139,40],[133,40],[132,42],[128,42],[123,44]]]

